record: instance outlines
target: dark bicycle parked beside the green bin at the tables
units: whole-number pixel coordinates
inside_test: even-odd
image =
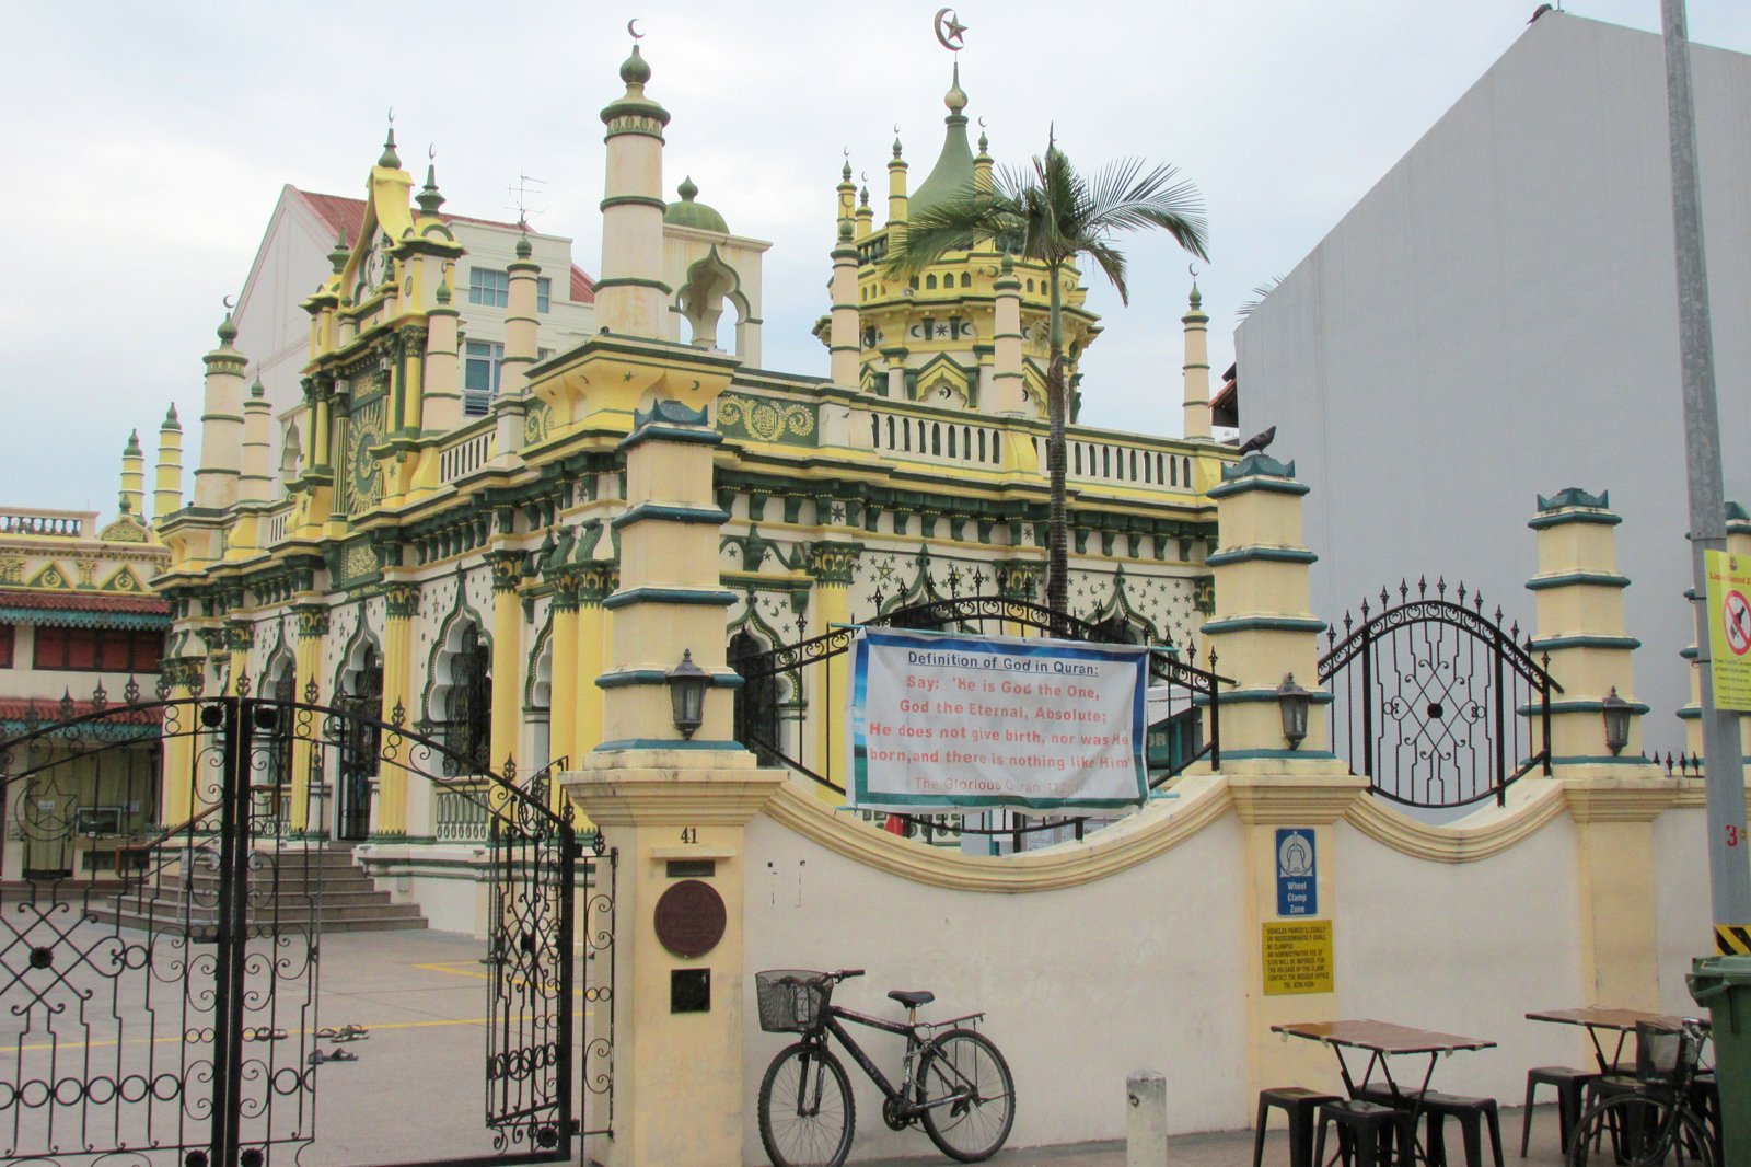
[[[1684,1018],[1679,1029],[1637,1023],[1635,1078],[1613,1085],[1611,1097],[1581,1114],[1569,1142],[1569,1167],[1714,1167],[1719,1148],[1690,1092],[1705,1039],[1695,1018]]]

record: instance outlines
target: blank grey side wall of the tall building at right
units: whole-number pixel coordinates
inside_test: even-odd
[[[1693,51],[1726,498],[1751,505],[1751,58]],[[1236,333],[1241,433],[1313,487],[1313,612],[1418,573],[1527,627],[1536,496],[1611,491],[1649,750],[1691,640],[1660,39],[1551,12]],[[1558,678],[1562,680],[1562,678]]]

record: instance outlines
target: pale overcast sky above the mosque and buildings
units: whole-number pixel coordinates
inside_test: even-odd
[[[622,91],[632,16],[646,33],[650,95],[672,116],[665,186],[692,175],[732,231],[774,242],[763,363],[825,375],[809,328],[828,307],[840,151],[868,173],[877,223],[895,124],[914,187],[930,172],[949,82],[935,7],[12,5],[0,44],[0,231],[12,270],[0,282],[0,505],[112,513],[128,431],[140,429],[151,461],[172,400],[193,468],[201,356],[280,187],[359,196],[389,107],[410,170],[436,147],[447,210],[515,219],[508,187],[518,173],[543,179],[532,224],[573,237],[594,275],[597,112]],[[1564,7],[1660,25],[1658,0]],[[998,163],[1038,152],[1056,123],[1086,170],[1136,154],[1198,184],[1212,251],[1199,286],[1220,373],[1250,289],[1294,268],[1525,32],[1532,9],[967,0],[961,86]],[[1690,0],[1690,30],[1751,53],[1751,5]],[[1164,237],[1122,247],[1129,307],[1091,280],[1107,331],[1084,359],[1084,421],[1175,435],[1187,256]]]

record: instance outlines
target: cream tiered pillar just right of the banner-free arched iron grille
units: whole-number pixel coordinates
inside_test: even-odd
[[[1641,641],[1623,627],[1623,589],[1616,569],[1616,527],[1609,494],[1567,489],[1539,498],[1537,575],[1527,589],[1537,603],[1536,654],[1562,685],[1551,697],[1551,778],[1564,783],[1574,817],[1581,995],[1632,1009],[1660,1006],[1660,873],[1653,822],[1677,797],[1641,753],[1641,715],[1630,654]],[[1630,706],[1628,745],[1606,745],[1604,701],[1616,692]],[[1543,745],[1534,718],[1534,741]]]

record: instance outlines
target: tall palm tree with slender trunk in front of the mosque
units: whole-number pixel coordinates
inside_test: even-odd
[[[1049,550],[1045,605],[1054,612],[1070,606],[1070,557],[1065,522],[1065,329],[1063,275],[1087,256],[1129,303],[1124,256],[1112,245],[1121,231],[1161,228],[1173,240],[1206,259],[1203,203],[1198,189],[1173,166],[1143,172],[1143,161],[1126,158],[1103,166],[1091,179],[1077,173],[1056,138],[1049,137],[1045,158],[1031,168],[1002,170],[989,189],[975,189],[928,207],[905,228],[905,244],[890,252],[893,275],[916,275],[951,251],[972,249],[991,240],[1002,251],[1044,265],[1051,291],[1051,357],[1045,371],[1045,403],[1051,431],[1045,466],[1051,477]]]

